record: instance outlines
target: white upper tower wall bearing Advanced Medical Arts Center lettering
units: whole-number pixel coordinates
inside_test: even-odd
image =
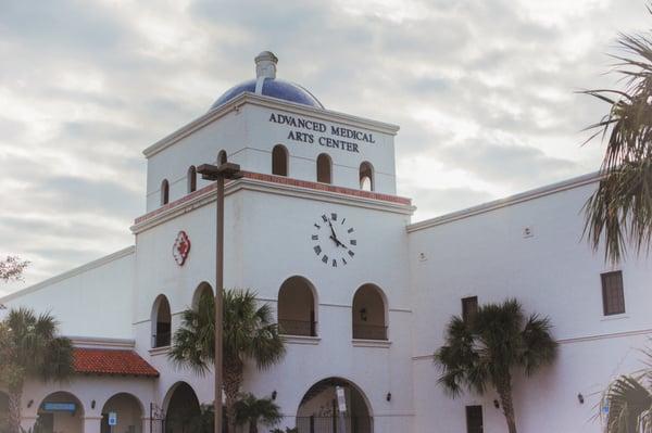
[[[240,164],[249,171],[272,174],[272,149],[284,144],[290,154],[289,177],[316,181],[316,158],[327,153],[333,160],[333,184],[348,188],[360,188],[359,168],[363,161],[374,166],[375,190],[383,193],[396,193],[393,135],[373,128],[352,125],[342,117],[333,114],[328,122],[316,117],[311,110],[303,110],[296,104],[271,102],[269,106],[246,103],[238,110],[230,110],[224,115],[211,118],[202,128],[179,138],[148,160],[147,174],[147,211],[160,207],[161,182],[170,182],[170,201],[178,200],[187,194],[187,171],[191,165],[215,163],[220,150],[226,150],[230,162]],[[328,112],[324,112],[329,115]],[[314,143],[303,143],[288,139],[290,131],[311,132],[287,125],[269,122],[271,115],[283,114],[294,118],[321,122],[327,126],[327,132],[313,133]],[[367,143],[350,138],[333,136],[331,127],[346,127],[373,135],[375,143]],[[318,137],[354,142],[360,152],[348,152],[318,144]],[[198,176],[198,189],[208,184]]]

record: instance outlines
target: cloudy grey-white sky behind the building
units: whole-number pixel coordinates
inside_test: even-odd
[[[0,0],[0,295],[134,243],[142,150],[254,77],[401,126],[398,190],[422,220],[599,168],[582,129],[617,87],[644,0]]]

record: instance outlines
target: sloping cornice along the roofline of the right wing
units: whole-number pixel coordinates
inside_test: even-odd
[[[441,226],[448,222],[453,222],[459,219],[468,218],[472,216],[485,214],[487,212],[500,209],[502,207],[512,206],[518,203],[527,202],[530,200],[540,199],[546,195],[556,194],[557,192],[572,190],[575,188],[584,187],[590,183],[594,183],[600,179],[600,173],[590,173],[588,175],[575,177],[573,179],[564,180],[561,182],[552,183],[546,187],[537,188],[534,190],[525,191],[515,195],[510,195],[505,199],[496,200],[492,202],[484,203],[477,206],[468,207],[463,211],[453,212],[436,218],[426,219],[408,226],[408,232],[418,231],[428,229],[436,226]]]

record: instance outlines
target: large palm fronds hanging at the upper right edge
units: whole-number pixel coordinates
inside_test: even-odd
[[[652,13],[650,7],[648,11]],[[585,235],[605,259],[620,260],[627,244],[637,254],[652,245],[652,37],[620,34],[623,55],[614,55],[624,90],[586,90],[610,104],[609,113],[587,129],[606,141],[600,183],[585,205]]]

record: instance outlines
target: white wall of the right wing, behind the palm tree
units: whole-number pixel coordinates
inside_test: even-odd
[[[586,420],[595,413],[594,393],[610,378],[640,368],[636,348],[652,332],[651,264],[631,259],[604,264],[582,241],[581,206],[592,186],[569,189],[410,234],[413,281],[414,369],[417,430],[439,425],[463,431],[464,405],[484,403],[485,432],[504,431],[492,406],[496,393],[460,400],[446,397],[431,354],[443,344],[444,327],[461,314],[461,298],[480,304],[516,297],[527,313],[550,317],[562,342],[555,366],[515,390],[519,431],[599,432]],[[534,237],[525,238],[530,227]],[[424,253],[426,260],[419,259]],[[622,269],[626,314],[604,317],[600,273]],[[634,334],[634,335],[630,335]],[[632,352],[634,351],[634,352]],[[518,375],[516,375],[518,377]],[[577,403],[577,394],[586,403]],[[454,413],[451,416],[451,413]],[[553,428],[553,425],[556,426]]]

